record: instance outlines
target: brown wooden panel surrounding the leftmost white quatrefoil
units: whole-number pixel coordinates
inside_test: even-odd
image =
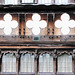
[[[6,13],[7,14],[7,13]],[[0,14],[0,20],[4,21],[5,23],[5,20],[4,20],[4,16],[6,14]],[[18,14],[10,14],[12,16],[12,20],[15,20],[18,22],[18,27],[17,28],[12,28],[12,32],[10,35],[19,35],[19,21],[18,21]],[[7,17],[8,18],[8,17]],[[9,23],[9,22],[8,22]],[[5,24],[6,25],[6,24]],[[4,28],[0,28],[0,35],[6,35],[4,33]]]

